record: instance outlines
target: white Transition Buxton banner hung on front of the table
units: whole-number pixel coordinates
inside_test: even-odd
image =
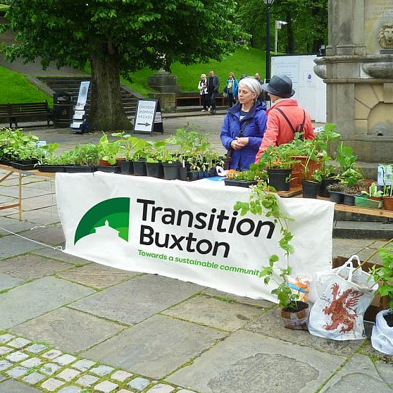
[[[65,252],[107,266],[158,273],[239,296],[276,301],[258,277],[280,256],[280,228],[266,216],[240,216],[249,189],[223,182],[160,180],[113,173],[58,173],[56,196]],[[330,268],[334,204],[280,198],[294,235],[293,275]],[[311,294],[311,301],[313,295]]]

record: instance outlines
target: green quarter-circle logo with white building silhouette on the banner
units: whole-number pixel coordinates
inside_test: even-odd
[[[130,198],[106,199],[87,211],[77,225],[74,244],[82,237],[95,233],[96,227],[108,225],[119,232],[119,237],[128,241],[130,223]]]

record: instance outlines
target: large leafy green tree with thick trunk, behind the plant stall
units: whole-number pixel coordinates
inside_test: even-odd
[[[89,121],[94,129],[129,129],[120,76],[174,61],[220,60],[244,39],[234,0],[17,0],[6,14],[18,43],[3,46],[9,61],[42,59],[92,73]]]

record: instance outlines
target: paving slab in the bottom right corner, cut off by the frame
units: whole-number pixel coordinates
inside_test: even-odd
[[[381,377],[382,374],[378,373],[368,356],[355,355],[320,392],[358,392],[359,390],[354,390],[354,387],[361,387],[362,392],[392,392],[387,385],[389,382],[384,382]]]

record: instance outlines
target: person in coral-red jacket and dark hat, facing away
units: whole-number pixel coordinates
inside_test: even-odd
[[[292,89],[292,80],[287,75],[274,75],[269,83],[264,83],[261,87],[268,92],[272,106],[266,111],[268,123],[256,154],[256,163],[268,146],[291,142],[299,128],[303,129],[304,139],[316,137],[310,115],[299,106],[296,99],[291,98],[295,92]]]

